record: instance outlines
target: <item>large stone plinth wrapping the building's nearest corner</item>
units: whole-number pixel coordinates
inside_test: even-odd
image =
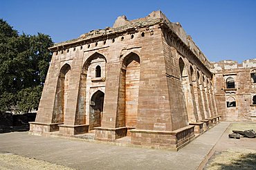
[[[156,149],[178,151],[194,139],[194,126],[185,126],[176,131],[147,131],[133,129],[131,144],[150,146]]]

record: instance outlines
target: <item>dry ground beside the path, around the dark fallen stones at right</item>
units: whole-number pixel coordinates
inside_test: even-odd
[[[203,169],[256,169],[256,138],[228,138],[232,130],[256,130],[255,123],[232,123],[208,155]],[[203,164],[202,166],[203,167]]]

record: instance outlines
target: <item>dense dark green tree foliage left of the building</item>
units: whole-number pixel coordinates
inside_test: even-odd
[[[37,109],[51,61],[48,35],[19,35],[0,19],[0,111]]]

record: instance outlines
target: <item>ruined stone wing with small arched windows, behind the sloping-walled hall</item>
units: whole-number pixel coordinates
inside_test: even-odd
[[[224,120],[256,120],[256,59],[212,64],[217,110]]]

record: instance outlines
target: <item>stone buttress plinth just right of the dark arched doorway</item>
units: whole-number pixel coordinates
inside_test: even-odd
[[[107,142],[114,142],[118,138],[125,137],[127,135],[127,127],[120,128],[102,128],[95,127],[95,140],[102,140]]]

